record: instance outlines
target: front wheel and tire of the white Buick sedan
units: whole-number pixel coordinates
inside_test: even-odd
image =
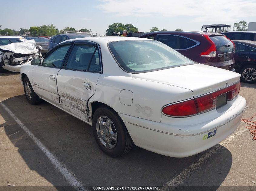
[[[42,102],[39,96],[34,92],[32,85],[27,76],[24,78],[23,87],[24,87],[25,97],[28,103],[30,103],[31,105],[37,105]]]

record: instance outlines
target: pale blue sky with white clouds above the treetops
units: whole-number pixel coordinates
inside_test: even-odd
[[[113,23],[132,24],[141,32],[152,27],[200,31],[205,24],[256,22],[256,0],[0,0],[2,29],[29,29],[54,24],[91,29],[104,35]]]

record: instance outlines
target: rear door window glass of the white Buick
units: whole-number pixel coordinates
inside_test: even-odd
[[[91,45],[75,45],[66,65],[67,69],[101,72],[98,48]]]

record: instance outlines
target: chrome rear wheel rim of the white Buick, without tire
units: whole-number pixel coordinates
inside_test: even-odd
[[[106,148],[114,148],[117,143],[117,132],[114,123],[107,116],[100,116],[96,123],[96,130],[101,143]]]

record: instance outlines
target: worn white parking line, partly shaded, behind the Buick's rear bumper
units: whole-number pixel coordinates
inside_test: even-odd
[[[205,161],[208,161],[218,150],[220,150],[222,146],[225,147],[229,145],[233,139],[241,135],[246,130],[247,129],[245,126],[242,126],[240,129],[232,133],[228,138],[220,142],[218,145],[215,145],[185,170],[182,170],[178,176],[172,178],[165,186],[179,186],[186,178],[190,177],[192,171],[197,170],[202,164],[204,164]]]

